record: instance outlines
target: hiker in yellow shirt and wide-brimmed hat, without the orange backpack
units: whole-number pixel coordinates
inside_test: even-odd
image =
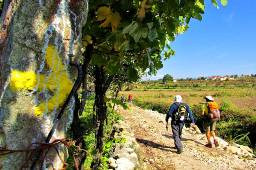
[[[214,144],[215,146],[219,146],[219,143],[216,139],[216,134],[215,134],[215,130],[216,130],[216,121],[211,121],[208,114],[209,114],[209,103],[213,103],[213,104],[216,104],[218,106],[218,104],[216,102],[213,102],[214,101],[214,98],[212,98],[211,96],[206,96],[204,98],[206,100],[206,103],[202,103],[202,104],[205,104],[205,105],[202,105],[202,115],[204,116],[204,121],[203,121],[203,124],[202,124],[202,128],[204,131],[206,131],[206,137],[207,137],[207,140],[208,140],[208,143],[205,144],[206,147],[209,147],[211,148],[212,147],[212,144],[211,144],[211,135],[213,137],[213,140],[214,140]],[[218,108],[219,109],[219,106]]]

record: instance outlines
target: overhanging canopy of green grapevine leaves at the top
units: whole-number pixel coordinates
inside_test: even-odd
[[[202,0],[147,0],[146,6],[141,7],[141,0],[89,1],[82,35],[95,38],[93,63],[104,66],[107,74],[128,76],[130,81],[136,81],[147,68],[149,75],[155,74],[163,66],[162,58],[175,55],[168,40],[186,31],[191,18],[202,20],[205,7]],[[100,13],[103,7],[109,13]]]

